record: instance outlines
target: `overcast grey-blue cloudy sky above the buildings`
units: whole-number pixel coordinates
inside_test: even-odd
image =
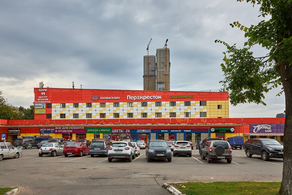
[[[143,56],[168,39],[171,90],[220,89],[225,46],[242,45],[230,23],[257,24],[258,7],[236,0],[0,1],[0,91],[14,106],[32,105],[34,87],[143,89]],[[255,48],[258,56],[267,51]],[[267,106],[230,105],[230,117],[275,117],[280,89]]]

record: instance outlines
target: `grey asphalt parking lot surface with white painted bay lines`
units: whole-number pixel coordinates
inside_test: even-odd
[[[18,187],[20,194],[169,194],[163,183],[185,181],[281,181],[283,159],[247,158],[244,150],[232,151],[232,163],[207,163],[197,149],[192,157],[178,155],[172,162],[147,162],[145,150],[127,162],[107,161],[107,156],[38,156],[38,149],[22,150],[20,158],[0,162],[0,186]]]

